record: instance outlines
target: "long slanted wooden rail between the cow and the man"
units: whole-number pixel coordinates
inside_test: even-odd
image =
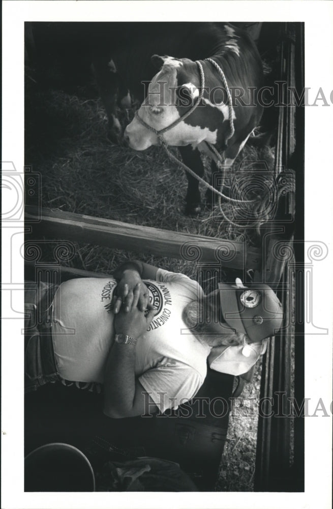
[[[48,238],[70,239],[200,263],[221,262],[223,267],[242,270],[244,267],[256,270],[261,262],[261,250],[246,247],[243,242],[143,227],[57,209],[39,210],[26,206],[25,221],[33,225],[35,237],[36,234],[47,235]]]

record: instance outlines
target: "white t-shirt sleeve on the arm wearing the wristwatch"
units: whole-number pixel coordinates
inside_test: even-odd
[[[204,378],[193,367],[174,359],[164,358],[156,367],[140,376],[139,382],[163,413],[168,408],[191,400]]]

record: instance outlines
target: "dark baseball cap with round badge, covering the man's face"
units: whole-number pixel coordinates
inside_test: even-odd
[[[268,285],[240,288],[219,283],[219,293],[224,320],[237,332],[247,334],[251,343],[273,336],[280,329],[282,304]]]

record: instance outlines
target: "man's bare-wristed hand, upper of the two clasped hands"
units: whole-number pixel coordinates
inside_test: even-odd
[[[119,313],[122,306],[125,312],[138,306],[141,311],[153,309],[149,302],[148,290],[136,270],[127,269],[118,282],[116,295],[113,296],[114,314]]]

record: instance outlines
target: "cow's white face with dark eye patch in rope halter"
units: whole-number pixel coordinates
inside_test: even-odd
[[[163,64],[153,80],[149,83],[148,94],[143,101],[138,115],[156,131],[171,126],[193,105],[199,97],[200,78],[197,65],[187,59],[157,57]],[[179,80],[179,74],[183,79]],[[186,79],[185,79],[186,78]],[[181,90],[180,90],[181,89]],[[179,107],[179,93],[183,98],[183,107]],[[203,101],[206,103],[206,100]],[[225,108],[225,106],[223,105]],[[204,106],[199,105],[191,114],[191,121],[180,121],[179,124],[163,133],[168,145],[183,146],[192,144],[196,147],[204,140],[215,144],[218,126],[207,126]],[[226,108],[227,110],[228,108]],[[221,109],[220,125],[225,119]],[[131,148],[145,150],[152,145],[159,145],[156,133],[144,127],[137,118],[127,126],[125,137]]]

